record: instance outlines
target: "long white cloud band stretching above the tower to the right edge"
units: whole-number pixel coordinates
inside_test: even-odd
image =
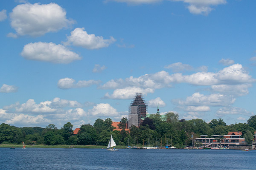
[[[231,65],[227,68],[211,72],[198,72],[190,75],[181,73],[169,74],[166,71],[160,71],[155,74],[145,74],[138,78],[129,77],[126,79],[115,79],[106,82],[100,88],[116,89],[122,87],[140,87],[140,88],[166,88],[172,87],[174,83],[189,83],[191,85],[221,85],[221,84],[243,84],[255,82],[240,64]]]

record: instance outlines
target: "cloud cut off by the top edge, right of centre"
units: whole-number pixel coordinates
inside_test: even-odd
[[[227,3],[226,0],[170,0],[170,1],[181,1],[183,3],[188,3],[189,12],[192,14],[203,14],[208,15],[214,8],[211,6],[217,6],[220,4]]]

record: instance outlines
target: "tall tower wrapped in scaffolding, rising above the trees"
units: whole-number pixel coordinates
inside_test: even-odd
[[[142,94],[136,93],[133,101],[129,105],[129,120],[128,127],[130,128],[132,125],[137,127],[143,122],[143,119],[146,118],[148,105],[144,101]]]

